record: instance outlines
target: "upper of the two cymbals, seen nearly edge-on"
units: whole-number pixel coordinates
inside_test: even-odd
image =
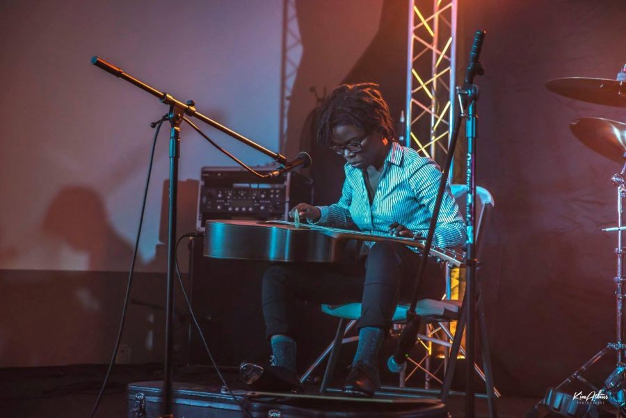
[[[548,90],[583,102],[626,107],[626,81],[565,77],[545,83]]]

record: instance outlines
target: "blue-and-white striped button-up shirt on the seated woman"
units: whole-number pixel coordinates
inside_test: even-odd
[[[412,148],[392,142],[374,200],[369,202],[364,172],[346,163],[346,179],[339,202],[319,207],[316,222],[335,227],[356,225],[362,231],[388,232],[398,222],[413,234],[426,236],[433,215],[441,171],[437,164]],[[454,247],[465,242],[465,221],[447,184],[433,244]]]

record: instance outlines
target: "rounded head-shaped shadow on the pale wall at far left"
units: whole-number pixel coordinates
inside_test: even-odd
[[[86,252],[90,271],[124,271],[133,253],[109,222],[102,198],[85,186],[67,186],[55,196],[42,230],[72,249]],[[137,268],[141,261],[138,260]]]

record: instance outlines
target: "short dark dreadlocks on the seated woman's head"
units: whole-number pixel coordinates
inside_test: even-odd
[[[395,138],[389,106],[375,83],[338,86],[317,115],[317,140],[326,147],[332,140],[332,129],[342,124],[353,124],[366,132],[380,130],[388,140]]]

